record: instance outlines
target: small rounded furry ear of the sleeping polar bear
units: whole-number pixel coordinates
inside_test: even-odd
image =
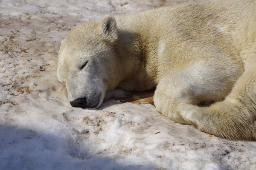
[[[114,17],[110,15],[106,15],[102,19],[102,26],[101,26],[101,33],[102,36],[105,37],[107,40],[114,42],[117,40],[117,28],[116,28],[116,20]]]

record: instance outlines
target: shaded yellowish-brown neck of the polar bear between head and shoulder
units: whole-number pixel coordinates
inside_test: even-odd
[[[128,91],[145,91],[157,85],[157,62],[154,65],[148,54],[148,45],[140,34],[119,31],[116,42],[118,57],[122,62],[123,79],[118,85]]]

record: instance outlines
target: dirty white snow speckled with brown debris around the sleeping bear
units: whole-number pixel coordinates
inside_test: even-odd
[[[255,142],[175,123],[153,105],[72,108],[58,82],[58,49],[70,28],[192,1],[1,0],[0,170],[255,170]]]

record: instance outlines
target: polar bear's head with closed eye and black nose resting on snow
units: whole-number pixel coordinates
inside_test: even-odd
[[[105,92],[122,80],[117,40],[116,20],[109,15],[72,28],[62,40],[57,76],[66,84],[72,107],[98,108]]]

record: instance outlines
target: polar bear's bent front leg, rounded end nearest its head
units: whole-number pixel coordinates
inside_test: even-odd
[[[186,120],[180,115],[184,107],[221,101],[230,93],[236,81],[234,75],[226,72],[228,69],[216,68],[215,65],[195,64],[161,79],[154,94],[157,111],[175,122],[197,126],[189,121],[196,115],[192,114],[192,118]]]

